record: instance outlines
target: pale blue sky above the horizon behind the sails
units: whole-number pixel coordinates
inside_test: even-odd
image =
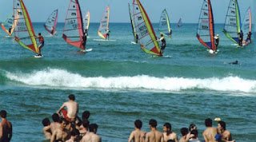
[[[256,0],[238,0],[243,15],[251,6],[256,23]],[[58,9],[58,22],[64,22],[70,0],[23,0],[32,22],[46,22],[50,14]],[[133,0],[79,0],[82,14],[90,10],[91,22],[99,22],[106,6],[110,6],[110,22],[130,22],[128,3]],[[151,22],[159,22],[162,10],[166,9],[170,22],[197,23],[203,0],[141,0]],[[13,0],[0,0],[0,21],[13,11]],[[230,0],[211,0],[214,10],[214,22],[224,23]],[[255,18],[254,18],[255,17]]]

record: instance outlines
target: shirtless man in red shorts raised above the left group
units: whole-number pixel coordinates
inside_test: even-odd
[[[59,112],[62,112],[64,118],[68,121],[75,121],[77,114],[78,114],[78,103],[74,101],[74,95],[70,94],[69,96],[69,101],[66,101],[65,103],[63,103],[63,105],[61,106],[61,108],[58,109],[57,113],[60,116]],[[66,110],[64,109],[64,107],[67,108],[67,115],[65,116]]]

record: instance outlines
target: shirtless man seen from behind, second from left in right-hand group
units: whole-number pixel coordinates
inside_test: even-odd
[[[158,122],[156,120],[150,120],[150,132],[146,133],[146,142],[160,142],[162,140],[162,132],[157,130]]]

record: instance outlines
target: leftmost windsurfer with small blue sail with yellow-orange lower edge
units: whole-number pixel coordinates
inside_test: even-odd
[[[2,30],[6,32],[9,36],[11,36],[14,32],[14,26],[16,26],[16,23],[14,22],[14,14],[13,12],[9,14],[4,22],[1,23]],[[11,30],[10,30],[10,27]]]

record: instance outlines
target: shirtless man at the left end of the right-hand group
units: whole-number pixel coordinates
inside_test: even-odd
[[[143,132],[141,130],[141,128],[142,128],[142,121],[141,120],[135,120],[134,121],[134,128],[135,128],[135,130],[130,133],[130,138],[129,138],[128,142],[131,142],[132,140],[134,142],[142,142],[142,141],[144,141],[146,132]]]

